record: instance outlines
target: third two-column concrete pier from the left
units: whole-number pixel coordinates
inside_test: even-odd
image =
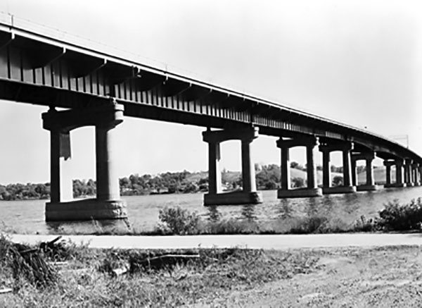
[[[290,140],[277,140],[277,147],[281,149],[281,188],[277,192],[279,198],[293,197],[320,197],[322,190],[316,183],[315,156],[318,152],[319,141],[317,137],[303,137]],[[291,147],[306,147],[307,157],[307,187],[290,189],[290,159]]]

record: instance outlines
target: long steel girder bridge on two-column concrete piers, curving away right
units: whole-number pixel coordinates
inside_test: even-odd
[[[13,16],[0,18],[0,99],[49,106],[42,114],[51,136],[51,200],[46,220],[124,218],[120,198],[113,130],[124,116],[169,121],[205,128],[209,192],[205,205],[262,202],[255,185],[250,144],[259,134],[279,137],[279,198],[377,190],[373,159],[383,159],[385,187],[421,185],[422,157],[397,142],[276,102],[225,89],[148,66],[101,49],[75,44],[23,27]],[[64,110],[63,110],[64,109]],[[72,183],[63,165],[70,159],[70,131],[96,131],[95,199],[71,200]],[[243,189],[222,192],[220,144],[241,141]],[[290,187],[289,151],[305,147],[307,187]],[[323,185],[316,183],[316,154],[322,152]],[[343,156],[343,185],[331,187],[331,153]],[[356,163],[366,161],[366,183],[358,185]],[[395,178],[392,178],[395,170]]]

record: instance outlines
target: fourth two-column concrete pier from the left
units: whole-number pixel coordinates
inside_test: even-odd
[[[356,187],[353,183],[354,168],[350,157],[350,152],[353,149],[352,142],[339,142],[337,144],[321,144],[319,151],[322,152],[323,164],[323,188],[324,195],[328,194],[347,194],[356,192]],[[331,152],[341,151],[343,157],[343,185],[332,187],[331,186],[331,165],[330,155]]]

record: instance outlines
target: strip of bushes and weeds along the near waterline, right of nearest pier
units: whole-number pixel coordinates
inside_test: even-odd
[[[244,207],[248,211],[248,207]],[[249,216],[248,216],[249,214]],[[181,207],[165,207],[160,210],[161,223],[153,234],[196,235],[196,234],[309,234],[343,232],[388,232],[421,231],[422,199],[413,199],[409,204],[393,200],[385,204],[378,217],[367,219],[361,216],[353,225],[345,225],[340,219],[331,220],[321,214],[290,216],[285,213],[281,221],[260,224],[252,211],[245,218],[221,219],[217,208],[210,207],[207,220]]]

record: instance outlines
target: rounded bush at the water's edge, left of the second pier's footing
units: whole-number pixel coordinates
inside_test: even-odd
[[[165,207],[160,209],[158,215],[160,221],[164,223],[165,233],[177,235],[197,234],[200,217],[196,213],[191,213],[181,207]]]

